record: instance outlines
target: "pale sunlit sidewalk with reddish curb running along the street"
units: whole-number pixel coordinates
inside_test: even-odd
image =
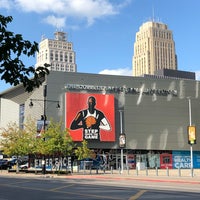
[[[194,183],[200,184],[200,169],[194,169],[193,176],[191,176],[190,169],[151,169],[151,170],[119,170],[102,171],[99,170],[81,170],[71,174],[35,174],[35,173],[16,173],[8,172],[7,170],[0,170],[0,176],[9,177],[44,177],[44,178],[74,178],[74,179],[107,179],[107,180],[145,180],[157,182],[181,182],[181,183]]]

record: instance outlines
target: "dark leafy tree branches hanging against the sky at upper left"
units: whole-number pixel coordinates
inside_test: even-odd
[[[25,90],[30,92],[42,84],[42,78],[49,74],[49,65],[37,69],[24,65],[22,56],[34,56],[38,52],[38,43],[31,43],[24,40],[21,34],[8,31],[7,24],[12,20],[12,16],[0,15],[0,77],[14,86],[23,84]]]

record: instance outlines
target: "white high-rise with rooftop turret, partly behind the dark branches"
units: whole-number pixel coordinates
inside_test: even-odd
[[[73,43],[67,41],[64,32],[55,32],[54,36],[54,39],[42,38],[39,43],[36,68],[47,63],[50,65],[50,71],[76,72],[76,54],[73,50]]]

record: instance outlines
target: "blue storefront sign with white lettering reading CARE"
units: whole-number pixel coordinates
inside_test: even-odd
[[[190,151],[172,151],[172,164],[174,169],[190,169]],[[200,168],[200,151],[193,151],[193,168]]]

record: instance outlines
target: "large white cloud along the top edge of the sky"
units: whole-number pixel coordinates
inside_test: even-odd
[[[35,12],[59,18],[72,18],[92,25],[96,19],[116,15],[120,9],[130,4],[131,0],[122,0],[120,3],[110,0],[0,0],[8,2],[23,12]],[[6,3],[4,3],[6,4]],[[47,17],[45,17],[47,18]],[[71,20],[72,21],[72,20]],[[50,21],[47,20],[47,23]],[[52,22],[51,25],[55,26]]]

